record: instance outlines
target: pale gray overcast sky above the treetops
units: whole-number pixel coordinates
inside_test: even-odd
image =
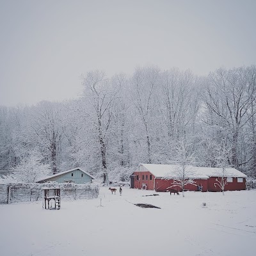
[[[96,68],[255,64],[255,10],[254,0],[0,0],[0,105],[77,97]]]

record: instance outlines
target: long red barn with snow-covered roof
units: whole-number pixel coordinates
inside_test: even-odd
[[[166,175],[173,175],[177,172],[177,166],[174,164],[139,164],[137,170],[131,175],[131,188],[148,189],[160,191],[168,191],[172,186],[173,180],[166,180]],[[198,186],[202,187],[202,191],[221,191],[217,185],[217,181],[224,177],[226,182],[226,190],[244,190],[246,189],[246,175],[239,172],[235,168],[225,168],[223,175],[222,168],[210,167],[192,167],[191,178],[195,180],[195,185],[188,184],[185,189],[196,191]],[[173,189],[180,191],[180,188],[175,186]]]

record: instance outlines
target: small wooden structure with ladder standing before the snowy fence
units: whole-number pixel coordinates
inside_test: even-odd
[[[43,208],[60,209],[60,188],[42,188],[44,191]]]

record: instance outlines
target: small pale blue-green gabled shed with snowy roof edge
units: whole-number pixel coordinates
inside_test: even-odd
[[[95,179],[90,173],[85,172],[83,169],[77,167],[71,170],[67,170],[65,172],[60,172],[49,177],[45,177],[44,179],[37,180],[38,183],[44,183],[48,181],[54,181],[58,183],[76,183],[83,184],[86,182],[92,182]]]

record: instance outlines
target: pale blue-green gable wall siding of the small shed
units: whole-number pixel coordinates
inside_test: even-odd
[[[73,173],[73,176],[72,176],[72,173]],[[83,174],[83,177],[82,177],[82,174]],[[86,182],[91,182],[92,177],[90,177],[89,175],[87,175],[84,172],[81,172],[81,170],[74,170],[72,172],[63,173],[56,177],[49,177],[48,179],[40,181],[40,183],[44,183],[47,181],[55,181],[58,183],[65,183],[65,180],[74,180],[74,183],[76,183],[76,184],[83,184]]]

